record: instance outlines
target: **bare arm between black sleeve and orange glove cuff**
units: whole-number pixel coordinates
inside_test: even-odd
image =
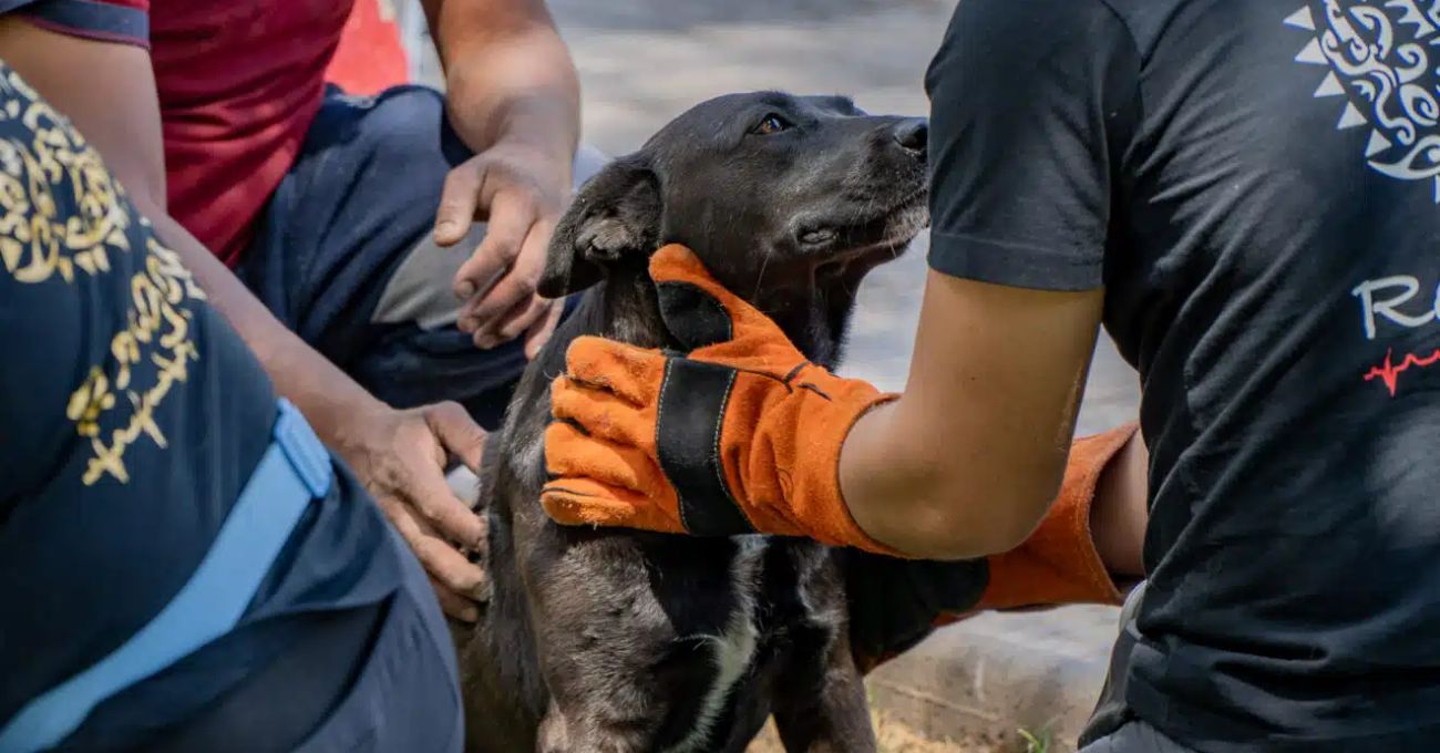
[[[841,452],[855,523],[932,559],[1020,544],[1060,488],[1102,301],[930,272],[906,392]]]

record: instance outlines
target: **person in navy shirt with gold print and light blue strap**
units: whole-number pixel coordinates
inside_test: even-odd
[[[0,62],[0,750],[459,750],[425,573]]]

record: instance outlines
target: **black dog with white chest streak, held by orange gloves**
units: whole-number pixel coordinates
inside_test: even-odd
[[[540,285],[590,288],[485,452],[492,598],[458,635],[469,750],[874,750],[835,553],[809,541],[569,528],[539,504],[550,380],[602,334],[674,347],[647,259],[684,243],[834,367],[861,278],[927,223],[923,120],[848,99],[729,95],[577,194]]]

